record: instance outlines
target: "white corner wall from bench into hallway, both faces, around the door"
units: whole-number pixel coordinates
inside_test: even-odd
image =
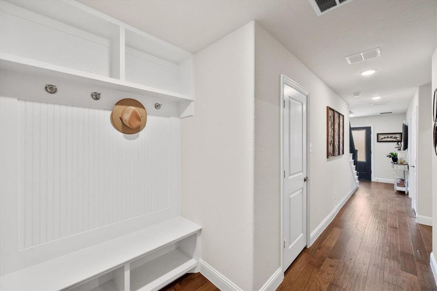
[[[182,215],[202,226],[201,259],[243,290],[280,268],[281,74],[310,92],[310,232],[355,186],[348,130],[345,155],[326,159],[326,106],[347,128],[348,104],[259,24],[198,52],[195,114],[181,120]]]

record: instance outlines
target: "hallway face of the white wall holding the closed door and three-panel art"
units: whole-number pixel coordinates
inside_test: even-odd
[[[280,75],[309,91],[310,232],[354,187],[349,164],[349,105],[259,24],[255,29],[254,289],[280,266]],[[197,101],[196,101],[197,102]],[[326,159],[326,106],[344,115],[345,154]],[[335,197],[334,192],[337,192]]]

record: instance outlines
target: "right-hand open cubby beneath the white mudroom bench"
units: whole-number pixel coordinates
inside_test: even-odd
[[[155,291],[165,287],[197,265],[197,261],[175,249],[130,270],[131,291]]]

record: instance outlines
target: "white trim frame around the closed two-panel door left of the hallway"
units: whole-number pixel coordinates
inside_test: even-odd
[[[280,90],[280,96],[279,96],[279,107],[280,107],[280,141],[279,141],[279,177],[280,177],[280,193],[279,193],[279,201],[280,201],[280,216],[279,216],[279,224],[280,224],[280,240],[279,240],[279,249],[280,254],[281,254],[281,268],[282,268],[282,272],[285,272],[284,270],[284,210],[283,210],[283,206],[284,206],[284,178],[283,178],[283,173],[284,173],[284,161],[283,161],[283,155],[284,155],[284,106],[283,106],[283,96],[284,96],[284,84],[289,85],[291,88],[297,90],[298,92],[302,93],[303,95],[305,95],[307,97],[307,175],[308,178],[309,177],[309,156],[310,156],[310,138],[309,138],[309,125],[310,125],[310,118],[309,118],[309,91],[307,89],[305,89],[304,87],[302,87],[301,85],[299,85],[298,83],[296,83],[295,81],[291,80],[290,78],[288,78],[287,76],[281,74],[281,90]],[[309,247],[309,243],[310,243],[310,227],[309,227],[309,198],[310,198],[310,185],[311,182],[308,181],[307,182],[307,237],[306,237],[306,241],[307,241],[307,247]]]

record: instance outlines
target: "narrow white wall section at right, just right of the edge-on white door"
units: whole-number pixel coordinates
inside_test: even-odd
[[[431,218],[432,213],[432,99],[431,84],[419,86],[406,113],[408,121],[417,108],[417,215]],[[410,133],[410,130],[409,130]]]

